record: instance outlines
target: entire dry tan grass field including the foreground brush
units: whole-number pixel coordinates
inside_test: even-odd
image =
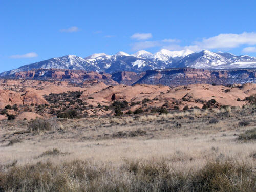
[[[4,120],[0,191],[256,191],[256,108]]]

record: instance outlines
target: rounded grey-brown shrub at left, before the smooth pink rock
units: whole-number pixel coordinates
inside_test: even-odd
[[[28,130],[30,131],[49,131],[55,127],[55,122],[52,119],[36,118],[30,120],[28,123]]]

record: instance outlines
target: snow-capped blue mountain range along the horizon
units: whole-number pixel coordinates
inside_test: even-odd
[[[207,50],[194,53],[191,50],[169,51],[166,49],[155,54],[141,50],[132,55],[124,52],[118,52],[115,55],[98,53],[86,58],[67,55],[25,65],[18,69],[3,72],[0,76],[11,76],[17,72],[32,69],[70,69],[115,73],[184,67],[197,69],[255,68],[256,58],[243,55],[236,56],[230,53],[214,53]]]

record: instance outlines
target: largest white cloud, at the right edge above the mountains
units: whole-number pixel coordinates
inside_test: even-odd
[[[196,41],[194,45],[185,46],[185,48],[199,51],[203,49],[230,49],[241,45],[256,45],[256,33],[223,33],[214,37],[203,38],[202,41]]]

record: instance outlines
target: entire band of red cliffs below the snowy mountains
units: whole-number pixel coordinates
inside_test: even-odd
[[[74,83],[93,84],[163,84],[179,86],[184,84],[243,84],[256,82],[256,69],[206,70],[195,68],[171,68],[164,70],[148,70],[146,72],[120,71],[114,74],[97,73],[84,70],[35,69],[17,72],[13,75],[21,79],[41,79],[70,81]],[[11,81],[11,80],[8,80]],[[15,82],[9,82],[15,83]]]

